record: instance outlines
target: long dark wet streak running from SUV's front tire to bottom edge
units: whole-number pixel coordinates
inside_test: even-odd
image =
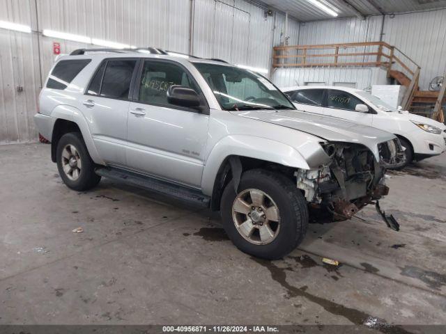
[[[348,308],[345,305],[341,305],[339,303],[335,303],[334,301],[330,301],[328,299],[315,296],[314,294],[310,294],[307,292],[308,287],[294,287],[293,285],[286,282],[286,269],[277,267],[277,265],[268,260],[261,260],[256,257],[251,257],[252,260],[261,264],[261,266],[265,267],[270,271],[272,280],[275,280],[277,283],[282,285],[287,292],[287,299],[291,299],[293,297],[304,297],[305,299],[312,301],[320,305],[324,310],[330,312],[332,315],[339,315],[351,321],[356,325],[367,325],[370,328],[375,328],[376,330],[386,333],[386,334],[409,334],[410,332],[406,331],[404,328],[399,326],[390,325],[385,321],[385,319],[378,319],[376,317],[372,317],[368,315],[366,312],[362,312],[360,310],[356,310],[355,308]]]

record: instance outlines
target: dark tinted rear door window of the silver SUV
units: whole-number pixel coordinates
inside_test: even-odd
[[[100,87],[100,96],[127,100],[136,63],[136,60],[114,59],[107,61]]]

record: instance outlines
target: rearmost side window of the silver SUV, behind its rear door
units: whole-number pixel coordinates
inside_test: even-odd
[[[69,61],[59,61],[49,74],[47,88],[65,89],[77,74],[91,62],[91,59],[76,59]]]

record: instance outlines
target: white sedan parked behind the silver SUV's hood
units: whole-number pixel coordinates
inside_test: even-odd
[[[352,120],[391,132],[406,148],[406,164],[446,150],[446,125],[408,111],[394,109],[364,90],[339,86],[282,88],[302,111]]]

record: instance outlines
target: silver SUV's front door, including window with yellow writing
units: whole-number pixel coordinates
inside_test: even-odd
[[[209,116],[169,104],[166,93],[171,85],[201,94],[190,73],[178,63],[144,61],[128,113],[128,165],[141,173],[199,188]]]

